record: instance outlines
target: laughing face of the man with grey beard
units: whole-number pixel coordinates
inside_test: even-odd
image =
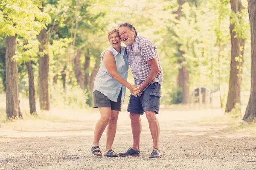
[[[129,45],[131,47],[135,40],[134,29],[130,30],[128,27],[122,26],[119,28],[118,32],[121,37],[121,41],[125,43],[125,45]]]

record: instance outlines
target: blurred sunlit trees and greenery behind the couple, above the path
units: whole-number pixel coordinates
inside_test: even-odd
[[[124,22],[158,47],[161,107],[241,117],[250,97],[247,7],[247,0],[1,0],[0,121],[52,108],[90,111],[107,33]],[[127,91],[124,106],[128,100]]]

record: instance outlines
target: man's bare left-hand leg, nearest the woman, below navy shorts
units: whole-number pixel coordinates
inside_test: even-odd
[[[142,130],[140,114],[130,113],[130,119],[131,119],[132,136],[134,139],[132,148],[134,150],[139,150],[140,149],[140,133]]]

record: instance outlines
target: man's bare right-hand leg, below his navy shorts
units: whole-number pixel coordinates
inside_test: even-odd
[[[148,119],[148,125],[151,132],[151,136],[153,139],[153,150],[157,148],[159,149],[159,134],[160,134],[160,127],[159,122],[157,120],[156,113],[154,111],[145,111],[146,117]]]

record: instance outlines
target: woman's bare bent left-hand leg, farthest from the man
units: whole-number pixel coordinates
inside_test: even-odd
[[[92,146],[99,146],[99,139],[111,120],[111,108],[99,108],[100,119],[96,123]],[[96,154],[100,154],[96,152]]]

